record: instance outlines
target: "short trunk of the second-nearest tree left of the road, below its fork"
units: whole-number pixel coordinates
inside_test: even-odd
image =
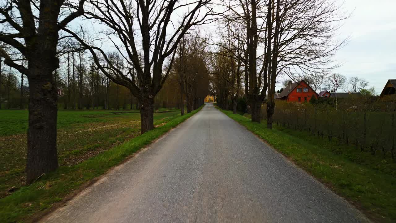
[[[154,129],[154,98],[143,98],[140,107],[141,134]]]

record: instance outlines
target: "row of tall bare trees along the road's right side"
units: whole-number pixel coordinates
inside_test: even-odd
[[[339,21],[347,15],[331,0],[220,0],[219,5],[225,8],[219,19],[221,40],[211,44],[218,46],[218,54],[237,61],[236,73],[244,73],[240,79],[244,83],[236,88],[242,84],[245,87],[252,121],[260,122],[261,106],[267,99],[267,126],[271,129],[277,77],[320,76],[337,67],[331,65],[331,58],[345,40],[339,41],[334,35]],[[212,90],[219,102],[228,98],[224,92],[230,92],[216,87],[223,76],[212,75],[216,79]],[[231,97],[237,93],[234,91]]]

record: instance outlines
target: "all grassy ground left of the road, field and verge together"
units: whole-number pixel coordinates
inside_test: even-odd
[[[35,221],[54,203],[62,201],[84,183],[102,175],[110,167],[122,162],[199,110],[183,116],[180,116],[180,110],[161,110],[160,113],[154,113],[155,129],[143,135],[140,134],[139,113],[72,111],[68,115],[69,111],[60,111],[58,123],[64,123],[58,126],[58,155],[61,166],[29,186],[22,186],[26,136],[23,138],[21,135],[3,135],[0,141],[0,185],[3,192],[0,199],[0,222]],[[18,115],[23,117],[26,115],[23,112]],[[0,117],[2,121],[6,119],[2,115]],[[15,132],[18,131],[24,131],[23,127],[15,129]],[[15,144],[20,144],[20,147],[16,148]],[[13,152],[14,150],[17,152]],[[7,194],[6,189],[13,185],[20,188]]]

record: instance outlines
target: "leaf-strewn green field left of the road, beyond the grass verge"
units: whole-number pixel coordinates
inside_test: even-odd
[[[179,116],[180,110],[154,113],[159,126]],[[59,164],[70,166],[87,160],[140,134],[138,111],[58,112],[57,149]],[[25,183],[28,125],[27,110],[0,110],[0,198]]]

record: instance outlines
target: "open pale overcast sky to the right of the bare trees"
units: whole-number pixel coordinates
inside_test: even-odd
[[[343,65],[335,72],[362,77],[379,94],[388,79],[396,79],[396,0],[345,0],[344,8],[352,15],[340,37],[351,38],[337,52]]]

